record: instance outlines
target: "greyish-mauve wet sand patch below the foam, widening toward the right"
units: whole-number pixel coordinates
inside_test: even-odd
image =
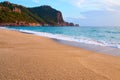
[[[95,51],[97,53],[108,54],[112,56],[120,56],[120,49],[118,48],[98,46],[93,44],[85,44],[85,43],[74,42],[74,41],[65,41],[65,40],[59,40],[59,39],[53,39],[53,40],[61,44],[70,45],[73,47],[78,47],[78,48],[82,48],[90,51]]]

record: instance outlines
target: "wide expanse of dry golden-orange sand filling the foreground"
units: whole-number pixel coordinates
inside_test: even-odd
[[[0,29],[0,80],[120,80],[120,57]]]

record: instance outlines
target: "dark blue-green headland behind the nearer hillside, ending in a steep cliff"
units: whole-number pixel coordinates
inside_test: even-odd
[[[62,13],[50,6],[40,6],[34,8],[28,8],[32,13],[41,17],[45,22],[50,25],[58,25],[64,22]]]

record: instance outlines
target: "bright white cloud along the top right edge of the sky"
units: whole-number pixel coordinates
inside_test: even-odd
[[[120,0],[68,0],[82,11],[108,10],[115,11],[120,7]]]

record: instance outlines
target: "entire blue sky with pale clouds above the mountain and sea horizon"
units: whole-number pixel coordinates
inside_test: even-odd
[[[0,0],[4,1],[4,0]],[[50,5],[80,26],[120,26],[120,0],[8,0],[26,7]]]

